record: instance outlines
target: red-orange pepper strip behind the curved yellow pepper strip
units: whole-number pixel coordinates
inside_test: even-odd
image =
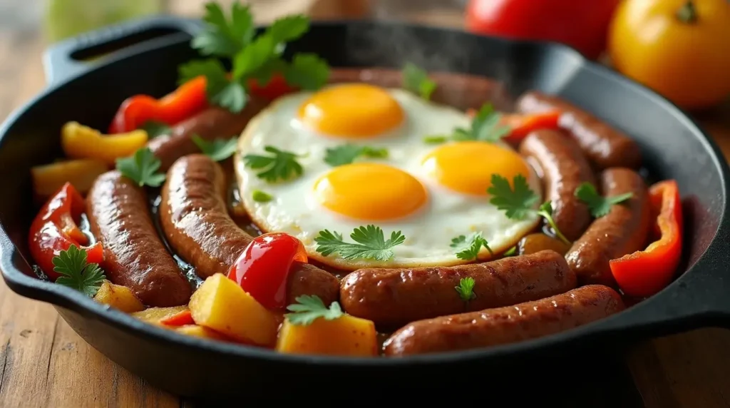
[[[109,127],[110,134],[141,128],[147,121],[181,122],[208,107],[205,77],[195,77],[161,99],[148,95],[131,96],[122,102]]]

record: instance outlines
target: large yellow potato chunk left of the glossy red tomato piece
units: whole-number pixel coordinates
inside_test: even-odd
[[[223,274],[208,277],[190,299],[193,320],[239,342],[274,345],[277,318]]]

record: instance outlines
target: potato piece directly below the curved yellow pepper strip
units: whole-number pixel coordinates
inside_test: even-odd
[[[100,160],[82,159],[59,161],[58,163],[35,166],[31,169],[33,190],[37,198],[45,199],[70,182],[79,193],[91,189],[94,180],[107,172],[107,163]]]

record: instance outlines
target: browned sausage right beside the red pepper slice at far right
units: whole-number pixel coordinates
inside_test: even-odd
[[[650,207],[644,180],[631,169],[606,169],[601,174],[604,196],[633,193],[597,218],[565,255],[578,282],[615,287],[609,261],[645,247],[650,226]]]

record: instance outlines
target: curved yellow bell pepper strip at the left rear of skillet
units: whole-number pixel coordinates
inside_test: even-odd
[[[133,155],[145,146],[147,139],[147,132],[142,129],[104,135],[78,122],[66,123],[61,129],[61,146],[66,157],[96,158],[110,165],[114,165],[118,158]]]

